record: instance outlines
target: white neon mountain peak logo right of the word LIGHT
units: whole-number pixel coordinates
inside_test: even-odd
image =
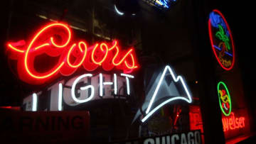
[[[169,79],[168,82],[166,78],[170,77],[170,74],[171,79]],[[169,67],[169,65],[166,65],[166,67],[164,68],[164,72],[162,74],[161,72],[158,74],[154,84],[151,86],[149,92],[147,92],[146,94],[146,99],[144,101],[144,104],[142,105],[142,111],[145,111],[146,109],[146,115],[142,118],[141,121],[146,121],[146,119],[148,119],[162,106],[178,99],[187,101],[188,103],[192,102],[191,94],[190,92],[188,92],[188,87],[186,86],[183,78],[179,75],[176,77],[174,71],[171,70],[171,67]],[[161,101],[161,103],[159,103],[159,101]],[[158,105],[154,103],[157,103]],[[153,104],[156,105],[154,106],[154,108],[152,108]],[[140,115],[142,115],[142,113],[140,111],[137,111],[137,114],[134,117],[134,121]]]

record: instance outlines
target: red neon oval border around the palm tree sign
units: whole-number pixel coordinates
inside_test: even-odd
[[[220,11],[218,11],[217,9],[214,9],[213,11],[215,11],[216,13],[218,13],[222,18],[223,20],[225,21],[225,24],[228,28],[228,31],[230,33],[230,40],[231,40],[231,43],[232,43],[232,49],[233,49],[233,60],[232,60],[232,64],[230,67],[225,67],[221,62],[220,62],[220,59],[215,51],[215,48],[214,48],[214,44],[213,44],[213,36],[212,36],[212,30],[211,30],[211,26],[210,26],[210,18],[208,20],[208,31],[209,31],[209,35],[210,35],[210,44],[212,46],[212,49],[213,49],[213,52],[214,52],[214,55],[216,57],[216,59],[218,60],[218,63],[220,64],[221,67],[223,67],[224,70],[231,70],[235,64],[235,46],[234,46],[234,42],[233,42],[233,36],[232,36],[232,33],[230,31],[230,27],[228,26],[228,23],[227,21],[225,20],[225,17],[223,16],[222,13],[220,13]]]

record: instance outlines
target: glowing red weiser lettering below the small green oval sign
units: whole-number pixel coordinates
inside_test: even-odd
[[[245,128],[245,117],[236,117],[233,112],[230,116],[222,118],[223,131],[232,131],[238,128]]]

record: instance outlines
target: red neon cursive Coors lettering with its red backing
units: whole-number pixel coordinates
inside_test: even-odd
[[[81,65],[87,71],[102,66],[106,71],[115,67],[124,73],[130,73],[138,67],[133,48],[126,52],[121,51],[117,40],[114,40],[112,45],[96,43],[90,48],[87,48],[87,44],[82,40],[75,43],[72,40],[72,33],[67,25],[51,23],[41,28],[28,45],[24,40],[7,43],[9,58],[18,60],[18,76],[29,84],[43,84],[58,74],[68,76]],[[45,54],[58,57],[58,64],[47,72],[38,72],[34,66],[35,58]]]

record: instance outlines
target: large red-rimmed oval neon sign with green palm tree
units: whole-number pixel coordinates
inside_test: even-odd
[[[227,21],[220,11],[213,10],[208,21],[210,44],[218,63],[224,70],[231,70],[235,63],[235,47]]]

